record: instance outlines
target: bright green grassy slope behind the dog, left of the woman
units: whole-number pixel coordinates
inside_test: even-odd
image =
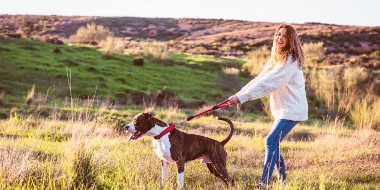
[[[58,49],[59,53],[54,53]],[[95,47],[54,45],[27,39],[0,37],[0,90],[23,97],[33,84],[37,92],[47,89],[57,96],[69,95],[66,67],[71,71],[73,96],[94,94],[126,100],[132,92],[151,93],[162,89],[185,102],[218,101],[234,92],[218,84],[222,67],[241,61],[204,55],[174,54],[161,62],[145,60],[133,65],[128,55],[104,56]],[[54,88],[54,89],[52,89]]]

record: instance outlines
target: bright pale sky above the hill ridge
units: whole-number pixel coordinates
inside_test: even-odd
[[[0,14],[223,18],[380,26],[380,0],[4,0]]]

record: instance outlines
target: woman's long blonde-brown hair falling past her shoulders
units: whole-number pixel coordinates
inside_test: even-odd
[[[285,29],[289,39],[289,43],[282,50],[278,48],[276,43],[277,32],[281,28]],[[295,32],[295,29],[291,25],[283,23],[277,27],[277,30],[273,37],[271,58],[268,60],[269,68],[272,69],[279,61],[286,61],[289,55],[292,55],[294,62],[298,61],[298,68],[300,70],[303,70],[305,68],[306,55],[303,51],[301,42],[299,41],[297,32]]]

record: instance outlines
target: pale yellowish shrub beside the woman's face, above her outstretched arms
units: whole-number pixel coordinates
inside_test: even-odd
[[[264,45],[255,48],[248,53],[248,61],[243,64],[243,70],[248,71],[251,75],[258,75],[263,70],[269,57],[271,57],[271,51],[268,46]]]

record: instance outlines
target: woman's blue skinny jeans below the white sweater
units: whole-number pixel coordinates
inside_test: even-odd
[[[286,179],[284,158],[279,152],[279,145],[298,122],[280,119],[273,123],[271,132],[265,138],[265,161],[261,183],[269,184],[273,169],[276,170],[277,176],[282,176],[283,180]]]

